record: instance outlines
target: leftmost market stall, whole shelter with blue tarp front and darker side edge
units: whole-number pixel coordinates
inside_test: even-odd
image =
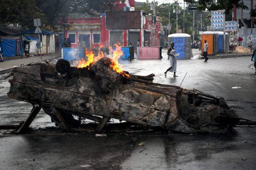
[[[18,36],[0,37],[0,47],[3,57],[19,56],[23,53],[22,39]]]

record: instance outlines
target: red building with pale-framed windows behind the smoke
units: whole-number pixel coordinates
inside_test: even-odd
[[[139,40],[140,46],[160,45],[160,21],[156,20],[155,26],[151,23],[151,17],[141,19],[144,29],[129,29],[129,30],[108,30],[105,27],[105,16],[90,17],[90,18],[67,18],[67,23],[70,25],[68,30],[65,30],[64,37],[69,38],[71,47],[87,47],[94,48],[100,45],[109,46],[121,42],[122,46],[128,46],[131,42],[136,47],[136,42]]]

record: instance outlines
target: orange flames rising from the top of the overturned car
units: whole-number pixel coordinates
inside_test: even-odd
[[[122,70],[122,66],[118,63],[118,59],[120,56],[123,55],[123,52],[121,50],[121,45],[118,42],[117,44],[114,44],[115,49],[113,50],[111,47],[109,48],[109,51],[112,53],[112,57],[110,58],[111,64],[109,65],[115,72],[119,73],[122,75],[124,78],[129,78],[129,74],[126,74]],[[100,47],[103,47],[100,45]],[[91,49],[86,49],[85,50],[85,55],[87,56],[87,61],[85,61],[83,58],[78,60],[78,68],[83,68],[83,67],[88,67],[90,69],[90,65],[95,63],[96,61],[100,60],[101,58],[104,57],[103,52],[98,49],[97,55],[94,54],[94,52]]]

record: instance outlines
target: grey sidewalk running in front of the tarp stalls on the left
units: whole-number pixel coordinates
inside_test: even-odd
[[[60,54],[54,53],[54,54],[47,54],[43,56],[33,56],[28,58],[20,58],[20,59],[13,59],[13,60],[0,62],[0,74],[11,72],[14,67],[18,67],[21,64],[26,65],[32,62],[55,59],[58,57],[60,57]]]

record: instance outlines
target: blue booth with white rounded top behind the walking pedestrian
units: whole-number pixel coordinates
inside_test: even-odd
[[[170,42],[174,42],[174,49],[179,53],[178,59],[190,59],[193,57],[191,51],[191,36],[186,33],[174,33],[168,35],[168,47]]]

